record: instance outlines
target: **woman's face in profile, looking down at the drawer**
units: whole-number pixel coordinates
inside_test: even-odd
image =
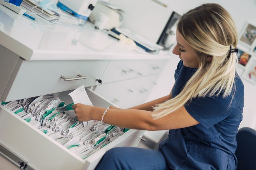
[[[184,40],[178,30],[176,30],[176,41],[177,44],[173,48],[172,53],[179,55],[186,67],[198,68],[199,62],[196,50]]]

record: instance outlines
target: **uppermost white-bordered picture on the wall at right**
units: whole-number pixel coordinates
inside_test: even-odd
[[[255,42],[256,39],[256,26],[247,22],[246,26],[244,27],[239,42],[243,43],[245,46],[249,47],[250,49],[253,48],[252,44]]]

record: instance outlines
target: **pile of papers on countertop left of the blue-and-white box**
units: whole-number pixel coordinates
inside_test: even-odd
[[[85,23],[84,20],[76,18],[58,8],[58,11],[42,9],[39,0],[23,0],[21,7],[26,9],[26,13],[34,18],[41,20],[42,18],[50,24],[60,24],[65,26],[79,26]],[[34,7],[34,8],[33,8]],[[33,8],[33,9],[32,9]],[[35,17],[35,15],[39,17]]]

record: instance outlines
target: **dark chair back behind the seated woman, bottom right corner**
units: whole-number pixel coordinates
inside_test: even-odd
[[[237,170],[256,170],[256,130],[241,128],[238,130],[236,140]]]

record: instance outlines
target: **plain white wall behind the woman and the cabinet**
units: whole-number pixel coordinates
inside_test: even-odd
[[[168,6],[167,8],[156,4],[152,0],[111,0],[110,2],[119,6],[126,13],[122,27],[128,28],[153,42],[158,40],[172,11],[182,15],[202,3],[213,2],[222,5],[233,17],[239,34],[246,21],[256,23],[256,0],[161,0]],[[158,80],[158,85],[153,89],[148,100],[167,95],[170,92],[178,61],[179,58],[172,55]],[[240,128],[251,127],[256,129],[256,86],[244,79],[243,83],[245,86],[245,101],[243,121]]]

